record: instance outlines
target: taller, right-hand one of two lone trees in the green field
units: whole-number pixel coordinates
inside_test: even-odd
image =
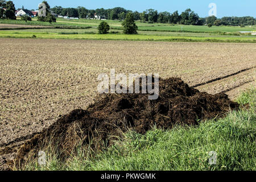
[[[126,15],[125,20],[122,22],[125,34],[137,34],[138,27],[134,22],[134,16],[132,13]]]

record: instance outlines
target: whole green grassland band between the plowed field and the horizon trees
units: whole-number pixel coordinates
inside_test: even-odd
[[[97,26],[102,20],[63,19],[56,23],[31,22],[22,20],[0,20],[0,38],[39,38],[39,39],[84,39],[84,40],[143,40],[161,42],[233,42],[255,43],[256,37],[240,34],[238,31],[255,31],[255,26],[247,27],[207,27],[184,26],[163,23],[137,22],[138,34],[125,35],[120,21],[106,20],[110,24],[110,34],[100,35]],[[10,25],[8,28],[8,25]],[[16,27],[15,27],[16,25]],[[22,27],[23,26],[23,27]],[[33,27],[34,26],[34,27]],[[9,30],[6,30],[9,29]]]

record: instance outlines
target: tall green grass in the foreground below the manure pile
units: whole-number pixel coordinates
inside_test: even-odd
[[[225,118],[199,126],[152,129],[145,135],[129,131],[122,140],[98,154],[80,147],[62,163],[47,152],[47,165],[36,159],[26,170],[256,170],[256,88],[238,98],[250,109],[230,111]],[[217,153],[209,164],[210,151]]]

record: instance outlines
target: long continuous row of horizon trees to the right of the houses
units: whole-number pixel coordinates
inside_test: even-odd
[[[245,17],[223,17],[217,19],[216,17],[207,17],[199,18],[199,15],[196,14],[191,9],[183,11],[181,14],[178,11],[174,13],[169,13],[167,11],[158,13],[157,10],[148,9],[139,13],[138,11],[130,11],[123,9],[122,7],[115,7],[114,9],[96,9],[88,10],[85,7],[77,8],[63,8],[61,6],[55,6],[51,9],[54,13],[62,16],[71,16],[77,18],[94,18],[94,14],[101,16],[102,19],[118,19],[124,20],[126,15],[132,13],[134,20],[141,20],[142,22],[148,23],[180,23],[180,24],[193,24],[193,25],[202,25],[202,24],[212,24],[217,20],[216,25],[254,25],[256,24],[256,19],[251,16]]]

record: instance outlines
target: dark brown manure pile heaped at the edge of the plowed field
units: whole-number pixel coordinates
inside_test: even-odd
[[[17,152],[16,160],[22,163],[29,152],[36,154],[39,144],[49,141],[65,159],[81,141],[97,150],[111,145],[128,129],[144,134],[152,126],[170,129],[177,124],[197,125],[239,107],[224,93],[199,92],[180,78],[159,78],[159,98],[148,100],[148,95],[105,94],[85,110],[71,111],[28,140]]]

